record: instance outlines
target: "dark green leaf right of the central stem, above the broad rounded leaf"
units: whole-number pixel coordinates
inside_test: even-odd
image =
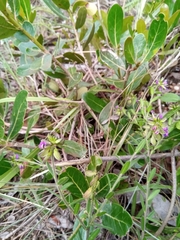
[[[113,173],[105,174],[102,178],[99,179],[99,189],[97,192],[97,198],[105,198],[109,193],[114,183],[117,180],[117,175]]]

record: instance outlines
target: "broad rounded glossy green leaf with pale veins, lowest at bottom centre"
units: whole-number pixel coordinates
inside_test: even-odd
[[[108,202],[102,209],[106,212],[102,216],[102,224],[111,233],[124,236],[132,226],[130,214],[119,204]]]

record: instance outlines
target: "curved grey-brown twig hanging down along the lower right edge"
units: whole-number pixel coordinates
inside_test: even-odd
[[[172,169],[172,197],[171,197],[171,203],[169,206],[168,213],[166,215],[166,218],[164,219],[162,225],[160,228],[156,231],[155,236],[158,237],[163,229],[165,228],[166,224],[169,221],[169,218],[171,217],[171,213],[174,208],[174,204],[176,201],[176,188],[177,188],[177,180],[176,180],[176,161],[175,161],[175,148],[171,152],[171,169]]]

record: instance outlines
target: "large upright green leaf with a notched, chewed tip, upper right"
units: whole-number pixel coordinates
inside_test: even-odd
[[[159,20],[153,20],[148,33],[148,52],[145,59],[150,60],[163,45],[167,35],[167,22],[164,15],[159,14]]]

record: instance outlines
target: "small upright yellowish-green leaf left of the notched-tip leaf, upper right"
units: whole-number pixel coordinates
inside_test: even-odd
[[[134,53],[133,40],[131,37],[128,37],[124,43],[124,55],[128,63],[134,64],[135,53]]]

